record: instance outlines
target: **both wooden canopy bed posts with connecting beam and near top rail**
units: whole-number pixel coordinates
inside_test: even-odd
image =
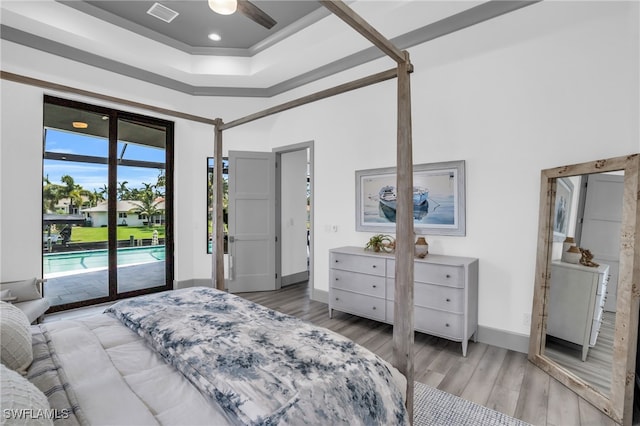
[[[393,326],[393,354],[394,366],[407,379],[406,406],[409,421],[413,421],[413,343],[414,343],[414,309],[413,309],[413,277],[414,277],[414,232],[413,232],[413,155],[411,142],[411,85],[409,74],[413,72],[413,65],[409,60],[407,51],[401,51],[393,43],[387,40],[375,28],[369,25],[364,19],[358,16],[346,4],[339,0],[321,0],[327,9],[334,15],[349,24],[358,33],[371,41],[376,47],[396,61],[397,67],[336,86],[332,89],[323,90],[302,98],[285,102],[263,111],[251,114],[228,123],[223,123],[221,119],[216,122],[216,156],[215,156],[215,179],[222,179],[222,131],[241,124],[246,124],[260,118],[264,118],[291,108],[315,102],[350,90],[365,87],[374,83],[382,82],[394,77],[398,78],[398,123],[397,123],[397,192],[398,202],[396,208],[396,272],[395,272],[395,305],[394,305],[394,326]],[[218,153],[220,150],[220,153]],[[220,161],[220,163],[218,163]],[[214,186],[217,188],[216,181]],[[222,206],[216,204],[222,195],[218,194],[214,200],[216,209],[216,255],[214,257],[222,259],[222,248],[219,245],[222,241]],[[213,274],[216,276],[214,284],[224,285],[224,276],[220,278],[222,261],[214,261]]]

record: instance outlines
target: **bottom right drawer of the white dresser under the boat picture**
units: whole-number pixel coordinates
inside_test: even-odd
[[[426,334],[461,340],[464,316],[435,309],[414,307],[414,328]],[[393,322],[394,304],[387,301],[387,322]]]

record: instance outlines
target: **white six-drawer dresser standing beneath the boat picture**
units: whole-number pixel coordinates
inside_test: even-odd
[[[361,247],[330,250],[329,316],[333,310],[393,324],[395,255]],[[462,342],[467,355],[478,330],[478,259],[429,254],[414,263],[414,327]]]

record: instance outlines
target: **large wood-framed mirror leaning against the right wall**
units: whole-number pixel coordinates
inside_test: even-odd
[[[543,170],[529,359],[631,425],[640,154]]]

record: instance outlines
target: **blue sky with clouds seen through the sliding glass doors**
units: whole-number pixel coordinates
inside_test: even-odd
[[[66,154],[90,155],[106,157],[108,140],[78,133],[62,132],[47,129],[46,150]],[[118,143],[118,153],[122,152],[123,143]],[[128,144],[124,158],[129,160],[146,160],[164,162],[165,152],[162,149]],[[160,171],[141,167],[118,167],[118,182],[127,181],[127,188],[142,188],[142,183],[155,184]],[[107,165],[78,163],[61,160],[44,160],[43,176],[48,176],[53,184],[62,184],[60,178],[69,175],[77,185],[84,189],[100,191],[107,183]]]

